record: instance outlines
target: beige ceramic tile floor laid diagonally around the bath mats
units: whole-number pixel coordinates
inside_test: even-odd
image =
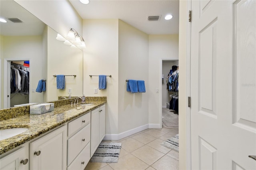
[[[85,170],[178,170],[179,153],[161,145],[178,134],[178,128],[146,129],[121,140],[118,162],[89,162]]]

